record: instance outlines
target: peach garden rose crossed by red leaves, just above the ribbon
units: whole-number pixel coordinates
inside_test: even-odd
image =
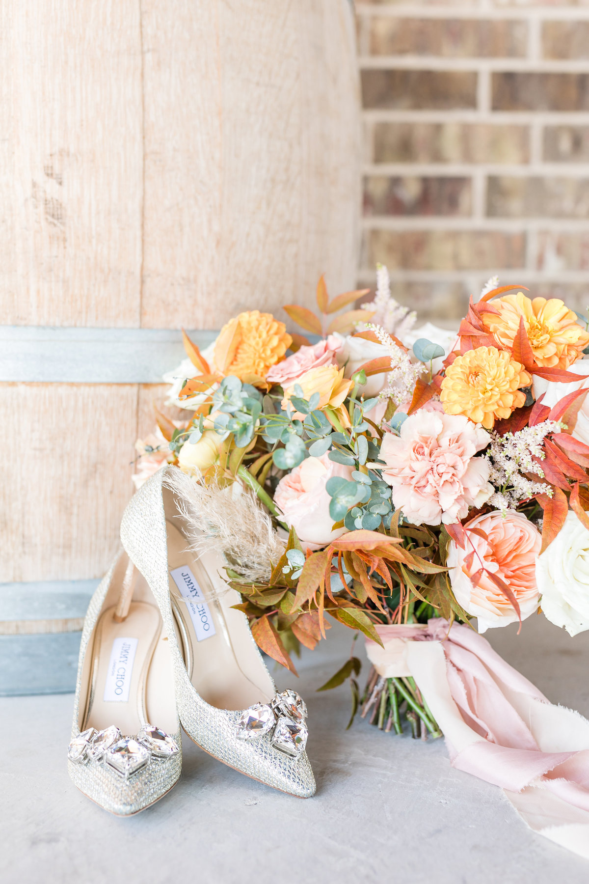
[[[478,516],[464,528],[468,537],[466,549],[451,540],[446,561],[458,604],[478,618],[479,632],[518,620],[510,599],[488,574],[483,571],[472,580],[477,572],[486,569],[510,587],[525,620],[538,609],[540,598],[536,584],[536,556],[542,545],[540,531],[522,513],[509,511],[503,515],[496,510]],[[475,534],[473,528],[483,532],[487,539]]]

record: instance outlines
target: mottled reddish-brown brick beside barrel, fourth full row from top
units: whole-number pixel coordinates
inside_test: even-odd
[[[470,178],[388,178],[364,183],[365,215],[470,215]]]

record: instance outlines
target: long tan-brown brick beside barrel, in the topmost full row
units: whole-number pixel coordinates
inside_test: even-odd
[[[370,32],[373,55],[440,57],[523,57],[524,21],[484,19],[374,18]]]

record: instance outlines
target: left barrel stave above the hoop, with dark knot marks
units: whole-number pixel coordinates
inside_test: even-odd
[[[1,6],[0,322],[138,325],[139,4]]]

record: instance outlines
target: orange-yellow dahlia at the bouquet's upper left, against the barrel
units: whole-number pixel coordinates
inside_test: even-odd
[[[215,366],[223,375],[265,378],[283,359],[292,338],[271,313],[249,310],[223,325],[215,342]]]

